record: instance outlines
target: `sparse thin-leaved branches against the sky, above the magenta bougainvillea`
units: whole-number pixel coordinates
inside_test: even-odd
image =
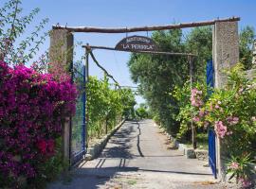
[[[47,32],[39,36],[48,19],[43,19],[28,37],[24,37],[27,26],[31,24],[40,9],[33,9],[27,16],[22,16],[21,0],[9,0],[0,9],[0,60],[11,64],[25,63],[31,60],[46,40]],[[22,37],[20,43],[18,38]]]

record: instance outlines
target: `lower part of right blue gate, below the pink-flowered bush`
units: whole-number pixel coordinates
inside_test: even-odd
[[[215,148],[215,132],[213,129],[209,129],[209,164],[212,170],[214,178],[217,179],[217,169],[216,169],[216,148]]]

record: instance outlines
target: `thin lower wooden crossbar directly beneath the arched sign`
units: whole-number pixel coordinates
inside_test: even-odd
[[[163,52],[163,51],[131,51],[131,50],[120,50],[113,47],[108,46],[91,46],[91,45],[82,45],[83,48],[87,50],[93,49],[103,49],[103,50],[115,50],[115,51],[122,51],[122,52],[132,52],[132,53],[146,53],[146,54],[156,54],[156,55],[169,55],[169,56],[191,56],[196,57],[196,55],[192,53],[172,53],[172,52]]]

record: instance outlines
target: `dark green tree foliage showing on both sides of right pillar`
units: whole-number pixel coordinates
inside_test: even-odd
[[[240,61],[247,69],[251,67],[253,36],[254,30],[249,26],[240,33]],[[162,51],[196,54],[197,58],[193,60],[193,80],[205,82],[206,63],[212,59],[211,26],[195,27],[187,35],[182,34],[180,29],[155,31],[152,39]],[[150,110],[166,129],[175,134],[179,129],[179,122],[175,120],[180,112],[180,102],[172,92],[175,87],[182,88],[190,78],[187,57],[132,54],[128,66]]]

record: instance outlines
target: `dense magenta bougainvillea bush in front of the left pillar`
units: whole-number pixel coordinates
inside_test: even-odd
[[[4,61],[0,88],[0,185],[19,187],[46,177],[42,167],[58,153],[56,139],[64,117],[75,112],[77,92],[70,80]]]

